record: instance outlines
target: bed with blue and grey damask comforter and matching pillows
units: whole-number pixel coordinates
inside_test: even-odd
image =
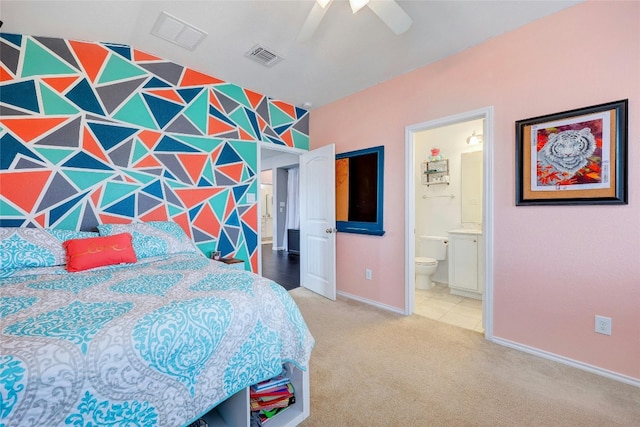
[[[99,229],[0,228],[0,426],[187,425],[285,362],[308,369],[314,340],[280,285],[175,224]],[[69,271],[65,242],[122,234],[135,262]]]

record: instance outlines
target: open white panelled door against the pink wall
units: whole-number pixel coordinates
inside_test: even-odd
[[[336,154],[330,144],[300,157],[300,286],[336,299]]]

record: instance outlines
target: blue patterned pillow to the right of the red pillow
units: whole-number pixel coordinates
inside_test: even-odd
[[[101,236],[131,233],[138,259],[177,253],[201,253],[178,224],[151,221],[133,224],[101,224]]]

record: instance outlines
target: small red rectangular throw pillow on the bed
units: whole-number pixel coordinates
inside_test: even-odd
[[[67,270],[82,271],[105,265],[138,261],[131,244],[131,234],[71,239],[62,246],[67,251]]]

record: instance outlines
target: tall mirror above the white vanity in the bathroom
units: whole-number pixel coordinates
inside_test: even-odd
[[[482,228],[482,151],[461,154],[460,175],[461,221]]]

